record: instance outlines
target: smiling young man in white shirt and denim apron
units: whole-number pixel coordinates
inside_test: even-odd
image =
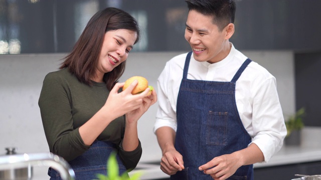
[[[276,80],[229,42],[233,0],[186,0],[192,52],[158,77],[154,132],[171,179],[253,179],[286,135]]]

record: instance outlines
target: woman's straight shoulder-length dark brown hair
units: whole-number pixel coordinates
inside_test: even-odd
[[[139,40],[140,30],[137,21],[127,12],[107,7],[98,11],[88,21],[74,48],[64,59],[60,69],[68,67],[70,72],[86,84],[92,84],[91,78],[96,74],[97,63],[101,51],[104,35],[109,30],[128,29],[137,33]],[[103,80],[109,90],[118,82],[125,70],[125,62],[121,62],[112,71],[104,74]]]

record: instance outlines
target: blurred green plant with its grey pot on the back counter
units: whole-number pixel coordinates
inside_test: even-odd
[[[301,143],[301,129],[304,127],[303,117],[305,115],[304,107],[298,109],[293,115],[289,116],[285,121],[287,134],[285,137],[285,144],[300,145]]]

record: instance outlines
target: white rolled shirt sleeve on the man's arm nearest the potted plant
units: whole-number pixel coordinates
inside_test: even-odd
[[[269,78],[257,86],[253,96],[253,140],[263,152],[264,162],[280,150],[286,135],[276,80]]]

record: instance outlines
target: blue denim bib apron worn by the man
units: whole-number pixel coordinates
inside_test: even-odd
[[[191,54],[185,60],[177,100],[175,147],[183,155],[185,169],[172,175],[173,180],[213,179],[198,167],[251,142],[235,100],[235,83],[251,60],[246,59],[230,82],[191,80],[187,79]],[[253,164],[241,166],[228,179],[253,179]]]

